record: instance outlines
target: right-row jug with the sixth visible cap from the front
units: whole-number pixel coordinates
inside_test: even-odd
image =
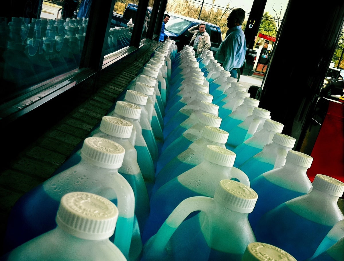
[[[235,126],[243,122],[247,116],[251,115],[253,109],[258,107],[259,100],[246,97],[243,104],[238,106],[231,114],[223,118],[221,129],[229,133]]]

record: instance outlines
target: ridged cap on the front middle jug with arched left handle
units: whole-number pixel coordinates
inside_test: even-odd
[[[240,213],[251,213],[257,199],[256,191],[231,179],[221,180],[214,194],[214,200],[222,202],[229,209]]]

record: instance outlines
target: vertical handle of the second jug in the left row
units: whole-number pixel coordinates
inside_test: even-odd
[[[122,251],[123,255],[129,258],[129,248],[134,225],[135,196],[129,182],[120,174],[115,176],[112,184],[117,193],[118,218],[115,230],[114,244]],[[125,228],[125,229],[123,229]]]

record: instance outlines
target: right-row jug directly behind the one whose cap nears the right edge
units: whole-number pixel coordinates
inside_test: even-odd
[[[257,222],[266,212],[308,193],[312,183],[307,176],[307,169],[310,168],[312,161],[313,158],[307,154],[289,150],[285,165],[250,179],[251,188],[259,195],[257,208],[248,217],[252,228],[256,227]]]

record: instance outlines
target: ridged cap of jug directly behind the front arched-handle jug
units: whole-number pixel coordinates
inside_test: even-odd
[[[233,167],[236,154],[233,151],[217,145],[207,145],[204,158],[214,164]]]

